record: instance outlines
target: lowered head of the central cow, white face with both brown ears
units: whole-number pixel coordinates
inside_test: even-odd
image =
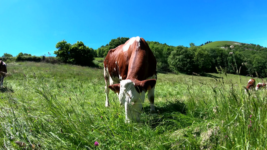
[[[125,106],[126,121],[140,121],[140,112],[142,103],[145,99],[145,92],[153,88],[156,84],[156,79],[146,80],[121,80],[120,83],[109,85],[109,88],[119,93],[119,100]]]

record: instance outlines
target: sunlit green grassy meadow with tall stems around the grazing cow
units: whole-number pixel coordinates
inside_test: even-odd
[[[146,97],[141,122],[125,123],[114,92],[111,106],[105,107],[102,69],[42,62],[7,65],[0,92],[2,149],[267,147],[267,93],[245,93],[249,77],[158,73],[157,114],[149,114]]]

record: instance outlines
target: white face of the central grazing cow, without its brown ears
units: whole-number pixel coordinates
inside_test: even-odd
[[[140,121],[140,112],[145,99],[145,92],[138,93],[134,87],[134,83],[130,79],[125,79],[120,82],[120,103],[125,106],[126,121]]]

